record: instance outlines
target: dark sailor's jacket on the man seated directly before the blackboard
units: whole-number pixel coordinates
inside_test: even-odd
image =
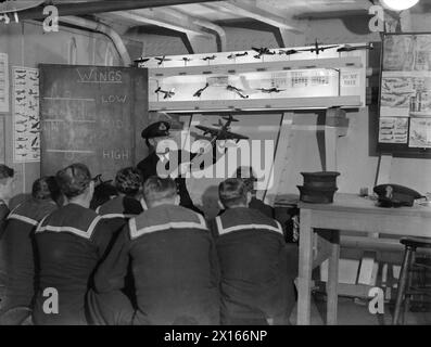
[[[77,204],[61,207],[36,229],[40,273],[34,308],[36,324],[86,324],[85,296],[113,231],[102,217]],[[59,313],[46,313],[46,288],[55,288]]]

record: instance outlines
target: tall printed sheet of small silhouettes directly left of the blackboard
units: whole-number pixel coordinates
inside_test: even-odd
[[[12,68],[13,77],[13,160],[40,162],[39,72]]]

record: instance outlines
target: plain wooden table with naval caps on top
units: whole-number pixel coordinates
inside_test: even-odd
[[[430,206],[383,208],[377,207],[376,201],[340,193],[335,194],[332,204],[301,202],[299,207],[301,208],[299,325],[310,323],[312,270],[317,256],[314,249],[314,229],[327,229],[324,231],[329,245],[327,324],[337,324],[340,230],[431,237]]]

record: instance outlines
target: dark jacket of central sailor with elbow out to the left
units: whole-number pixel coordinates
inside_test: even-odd
[[[98,269],[99,293],[124,286],[128,257],[138,309],[135,324],[217,324],[218,271],[204,218],[163,205],[129,220]]]

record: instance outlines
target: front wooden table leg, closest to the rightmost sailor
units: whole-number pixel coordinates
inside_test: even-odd
[[[310,324],[313,270],[312,211],[301,209],[300,264],[297,279],[297,325]]]

